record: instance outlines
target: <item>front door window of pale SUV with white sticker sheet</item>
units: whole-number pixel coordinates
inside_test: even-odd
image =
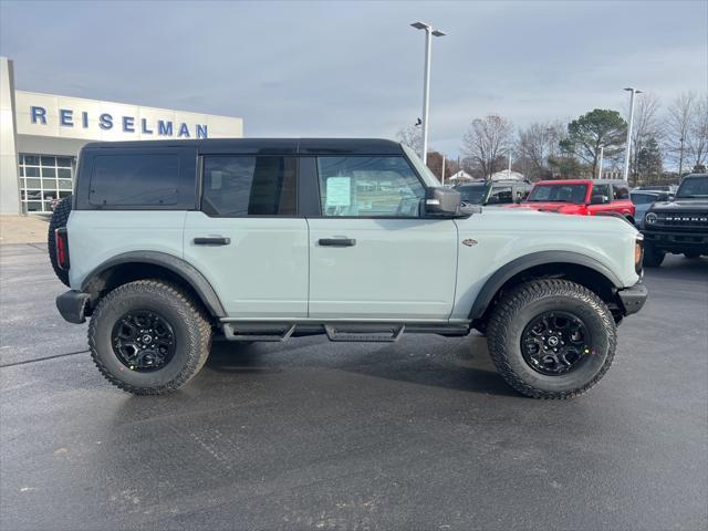
[[[416,218],[425,188],[403,157],[317,157],[322,214]]]

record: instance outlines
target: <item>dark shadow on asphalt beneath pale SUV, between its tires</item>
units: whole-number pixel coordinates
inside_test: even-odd
[[[454,391],[519,397],[493,367],[478,335],[445,339],[409,335],[394,344],[330,343],[324,337],[241,345],[215,342],[207,369],[258,375],[292,369],[344,371],[357,375]]]

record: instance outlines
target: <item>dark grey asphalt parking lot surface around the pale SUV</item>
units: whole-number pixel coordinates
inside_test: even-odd
[[[668,257],[589,395],[539,402],[481,337],[215,345],[134,397],[0,246],[0,528],[706,529],[708,259]]]

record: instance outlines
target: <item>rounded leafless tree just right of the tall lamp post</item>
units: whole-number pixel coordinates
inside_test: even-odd
[[[475,118],[462,137],[462,153],[481,169],[485,178],[491,178],[499,159],[511,149],[513,124],[511,121],[490,114]]]

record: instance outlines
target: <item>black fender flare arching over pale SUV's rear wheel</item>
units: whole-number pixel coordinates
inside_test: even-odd
[[[217,317],[227,316],[217,292],[197,268],[181,258],[160,251],[131,251],[110,258],[85,277],[81,284],[81,291],[92,291],[91,283],[95,279],[110,269],[124,263],[148,263],[150,266],[160,266],[171,271],[191,285],[211,315]]]

